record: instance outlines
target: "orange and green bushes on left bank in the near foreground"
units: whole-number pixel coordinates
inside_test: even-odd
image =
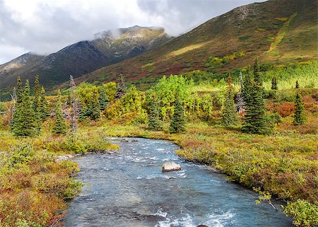
[[[65,214],[64,200],[81,190],[82,184],[70,177],[77,164],[57,162],[25,143],[0,155],[0,226],[57,226]]]

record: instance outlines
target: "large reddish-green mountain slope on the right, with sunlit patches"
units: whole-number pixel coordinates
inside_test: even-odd
[[[316,0],[249,4],[206,21],[155,50],[81,76],[77,83],[116,80],[119,73],[128,81],[195,69],[222,73],[252,65],[257,56],[259,62],[271,64],[318,59],[317,30]],[[227,62],[213,68],[218,61],[213,57]]]

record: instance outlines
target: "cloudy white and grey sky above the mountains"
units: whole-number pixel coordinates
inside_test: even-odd
[[[0,64],[134,25],[176,36],[255,1],[264,0],[0,0]]]

